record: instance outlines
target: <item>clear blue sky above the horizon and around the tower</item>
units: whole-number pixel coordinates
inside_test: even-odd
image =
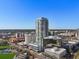
[[[0,0],[0,29],[32,29],[41,16],[49,28],[79,28],[79,0]]]

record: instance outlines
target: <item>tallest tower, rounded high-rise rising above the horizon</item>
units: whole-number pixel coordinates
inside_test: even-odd
[[[43,38],[48,36],[48,19],[40,17],[36,21],[36,42],[38,50],[43,51]]]

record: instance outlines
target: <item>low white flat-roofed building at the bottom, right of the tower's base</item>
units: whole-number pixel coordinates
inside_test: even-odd
[[[47,48],[45,49],[45,52],[48,55],[55,57],[56,59],[62,59],[63,56],[66,55],[66,49],[64,48],[57,48],[57,47]]]

